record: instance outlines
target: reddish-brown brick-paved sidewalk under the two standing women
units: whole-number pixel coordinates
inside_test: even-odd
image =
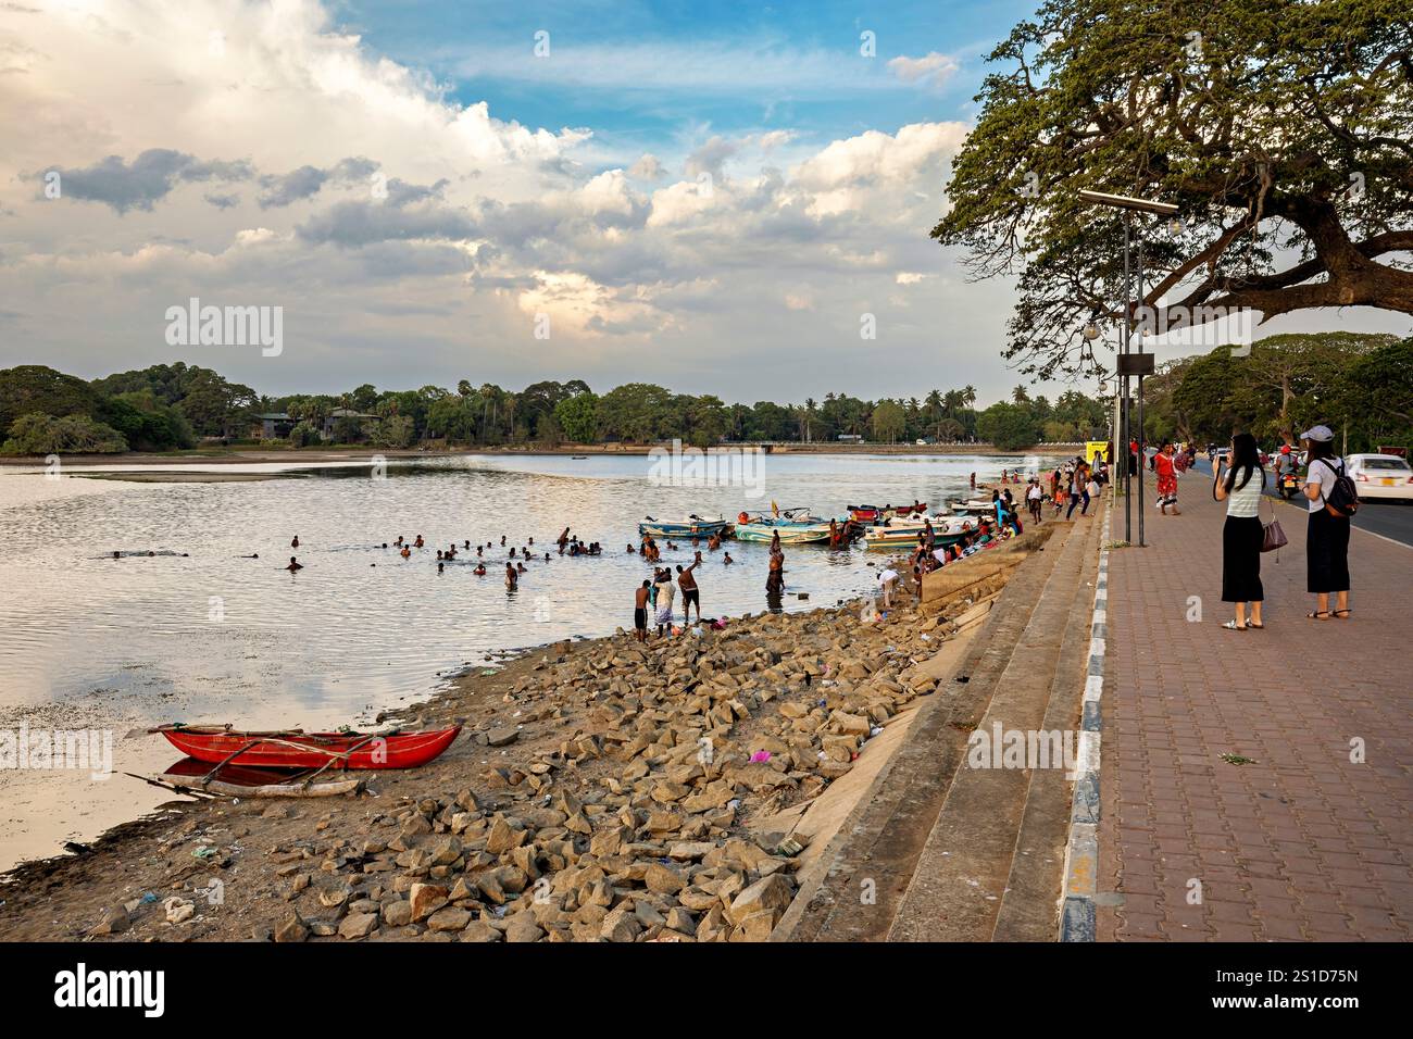
[[[1210,486],[1186,476],[1164,517],[1149,476],[1149,547],[1109,554],[1098,937],[1409,940],[1413,548],[1355,530],[1352,618],[1307,621],[1306,516],[1276,505],[1266,629],[1222,630]]]

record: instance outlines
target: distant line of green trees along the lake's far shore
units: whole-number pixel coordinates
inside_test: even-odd
[[[976,390],[933,390],[923,399],[861,400],[827,393],[803,404],[726,404],[719,397],[627,383],[598,394],[578,379],[524,390],[462,380],[455,389],[379,390],[266,397],[215,372],[177,362],[85,382],[41,365],[0,370],[6,454],[170,451],[201,440],[276,441],[295,447],[427,441],[506,444],[726,441],[985,441],[1022,448],[1104,435],[1106,404],[1075,390],[1053,404],[1017,386],[1010,400],[978,411]]]

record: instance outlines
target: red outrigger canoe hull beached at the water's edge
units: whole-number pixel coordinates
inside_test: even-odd
[[[243,732],[216,725],[162,725],[161,732],[196,761],[267,769],[414,769],[439,755],[461,725],[425,732]],[[332,762],[332,763],[331,763]]]

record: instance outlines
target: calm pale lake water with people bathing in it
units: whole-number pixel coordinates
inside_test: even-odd
[[[770,455],[760,462],[760,496],[742,486],[657,486],[643,457],[394,459],[383,479],[370,478],[366,461],[202,466],[288,475],[257,482],[0,471],[0,731],[112,729],[119,772],[160,772],[174,759],[165,741],[123,734],[165,721],[369,724],[499,652],[632,626],[633,589],[651,565],[625,547],[644,516],[732,517],[771,500],[822,516],[861,502],[935,506],[965,496],[971,472],[991,479],[1003,466],[1039,464],[1034,455]],[[560,557],[552,543],[567,526],[602,543],[603,556]],[[295,534],[298,550],[290,548]],[[421,534],[427,547],[407,561],[380,547],[398,534]],[[530,563],[519,589],[507,591],[509,546],[530,537],[551,561]],[[466,540],[469,553],[459,548]],[[438,574],[435,550],[452,541],[461,556]],[[476,577],[475,546],[486,541],[495,543],[489,573]],[[725,548],[733,565],[704,551],[698,568],[706,616],[766,609],[767,546]],[[113,560],[114,550],[172,554]],[[664,564],[692,557],[688,543],[663,550]],[[260,558],[243,558],[254,553]],[[281,570],[291,554],[305,564],[298,574]],[[880,558],[859,547],[787,547],[781,605],[812,609],[858,595],[873,585],[868,563]],[[164,799],[123,776],[0,770],[0,868]]]

